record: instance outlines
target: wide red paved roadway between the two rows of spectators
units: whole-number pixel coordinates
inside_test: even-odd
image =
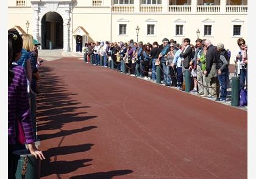
[[[247,178],[247,112],[59,59],[40,67],[41,178]]]

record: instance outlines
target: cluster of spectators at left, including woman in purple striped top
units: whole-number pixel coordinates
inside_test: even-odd
[[[16,29],[8,30],[8,178],[15,178],[13,152],[26,150],[26,144],[30,154],[44,159],[35,146],[34,130],[40,65],[37,46],[32,35],[21,37]]]

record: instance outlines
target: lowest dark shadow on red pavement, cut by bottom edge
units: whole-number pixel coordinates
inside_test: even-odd
[[[97,172],[93,174],[77,175],[70,177],[69,179],[112,179],[115,176],[131,174],[131,170],[119,170],[119,171],[109,171],[109,172]]]

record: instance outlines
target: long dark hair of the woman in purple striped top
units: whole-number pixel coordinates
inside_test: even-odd
[[[17,53],[21,52],[23,39],[16,29],[8,30],[8,85],[12,83],[14,73],[12,71],[12,62],[15,61]]]

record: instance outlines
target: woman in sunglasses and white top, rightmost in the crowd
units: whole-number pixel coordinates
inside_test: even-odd
[[[247,46],[243,38],[237,39],[239,46],[238,54],[236,55],[235,63],[236,70],[240,80],[240,90],[246,86],[247,88]],[[246,83],[246,84],[245,84]]]

